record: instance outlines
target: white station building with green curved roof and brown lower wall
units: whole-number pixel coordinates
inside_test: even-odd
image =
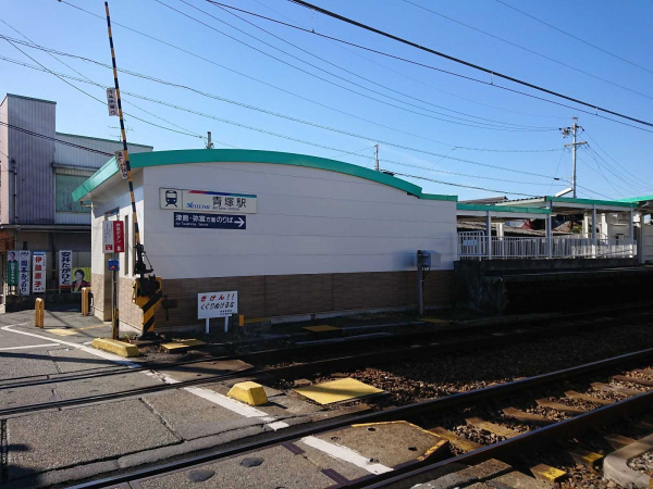
[[[417,302],[417,250],[432,252],[427,306],[453,305],[455,196],[392,175],[303,154],[180,150],[131,156],[147,258],[171,305],[157,330],[199,326],[198,293],[236,290],[246,317],[320,317]],[[73,192],[91,209],[95,314],[111,315],[102,222],[121,220],[121,327],[140,330],[132,304],[134,236],[127,183],[114,159]],[[168,317],[167,317],[168,316]]]

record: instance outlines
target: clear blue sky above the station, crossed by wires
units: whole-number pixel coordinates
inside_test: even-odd
[[[102,1],[66,1],[98,15],[104,14]],[[383,168],[490,189],[459,188],[403,177],[420,185],[426,191],[458,195],[460,199],[493,195],[521,198],[525,196],[519,193],[550,195],[563,189],[565,183],[554,181],[551,177],[557,175],[562,178],[570,178],[569,152],[497,152],[469,150],[461,147],[508,151],[560,149],[570,140],[563,139],[557,128],[569,126],[571,117],[578,116],[579,124],[586,129],[580,140],[590,142],[590,148],[579,150],[578,183],[583,187],[579,189],[579,197],[623,198],[653,193],[653,171],[650,164],[650,155],[653,153],[653,133],[353,47],[343,47],[310,33],[238,14],[283,40],[300,47],[304,50],[301,51],[206,1],[184,1],[161,0],[210,27],[183,16],[156,0],[113,0],[110,2],[111,17],[114,23],[124,24],[162,39],[205,60],[114,25],[113,36],[119,67],[243,104],[360,135],[364,138],[337,134],[204,97],[189,90],[121,74],[121,88],[125,91],[201,112],[210,117],[251,126],[262,131],[128,97],[125,99],[124,109],[135,116],[175,128],[170,124],[173,123],[197,135],[206,135],[207,130],[211,130],[217,148],[225,148],[223,142],[237,148],[288,151],[324,158],[337,156],[342,161],[368,166],[373,165],[369,159],[343,155],[343,153],[360,150],[358,154],[371,156],[373,154],[371,147],[379,142],[381,160],[395,162],[382,161]],[[653,18],[651,1],[639,0],[626,3],[580,0],[569,3],[562,0],[546,2],[505,0],[508,4],[651,72],[571,39],[495,0],[410,1],[632,91],[491,38],[404,0],[357,0],[355,2],[315,0],[321,7],[451,55],[616,112],[653,121],[653,90],[650,89],[653,83],[653,62],[650,58],[653,50],[653,33],[648,25],[650,18]],[[509,82],[492,79],[484,73],[345,25],[321,14],[312,16],[310,11],[287,0],[225,0],[224,3],[293,22],[303,27],[315,28],[321,34],[343,38],[441,70],[566,103]],[[193,9],[189,4],[204,12]],[[111,62],[106,24],[100,18],[65,3],[54,0],[3,0],[0,18],[38,45],[103,63]],[[7,24],[0,23],[0,34],[21,38]],[[264,51],[276,60],[214,29]],[[247,34],[256,36],[268,45]],[[274,47],[296,58],[291,58]],[[44,52],[25,47],[21,49],[52,71],[79,77]],[[0,55],[34,64],[2,39],[0,39]],[[59,58],[101,85],[112,84],[110,70],[78,59]],[[301,71],[279,60],[292,63]],[[239,72],[241,75],[235,72]],[[347,87],[349,90],[305,72]],[[104,98],[102,89],[97,86],[72,83],[95,97]],[[270,85],[285,91],[272,88]],[[118,126],[118,118],[109,117],[103,104],[81,93],[51,74],[0,60],[0,97],[5,92],[56,100],[59,131],[103,138],[118,136],[118,129],[110,127]],[[135,108],[131,102],[150,114]],[[583,108],[583,110],[588,109]],[[479,127],[479,123],[491,126]],[[152,145],[156,150],[201,148],[205,145],[205,141],[197,136],[161,129],[130,116],[127,116],[127,126],[132,129],[127,136],[131,141]],[[519,130],[506,130],[515,128]],[[529,130],[521,130],[523,128]],[[540,128],[551,130],[540,130]],[[264,131],[301,139],[317,146],[280,138]],[[439,154],[467,160],[467,162],[442,159]],[[464,175],[453,175],[453,173]]]

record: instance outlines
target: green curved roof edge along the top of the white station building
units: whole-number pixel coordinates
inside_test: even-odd
[[[180,165],[188,163],[269,163],[279,165],[306,166],[309,168],[325,170],[345,175],[353,175],[367,180],[383,184],[405,191],[419,199],[426,200],[449,200],[457,201],[457,196],[438,196],[423,193],[421,187],[402,180],[383,172],[365,168],[362,166],[344,163],[342,161],[325,158],[309,156],[306,154],[283,153],[278,151],[241,150],[241,149],[194,149],[175,151],[153,151],[130,154],[132,168],[145,168],[148,166]],[[118,163],[114,158],[109,160],[88,180],[82,184],[74,192],[73,199],[78,201],[88,192],[93,191],[106,180],[118,173]]]

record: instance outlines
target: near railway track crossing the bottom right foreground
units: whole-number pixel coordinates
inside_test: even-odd
[[[522,396],[527,392],[541,392],[547,389],[551,391],[552,389],[555,389],[556,386],[559,386],[560,383],[567,380],[590,383],[593,379],[596,379],[596,377],[605,375],[605,372],[608,372],[608,375],[617,372],[618,375],[614,376],[615,379],[623,380],[624,376],[621,376],[620,373],[626,367],[632,365],[645,365],[648,367],[652,364],[652,361],[653,349],[646,349],[578,365],[571,368],[565,368],[553,373],[515,380],[512,383],[500,384],[468,392],[459,392],[420,403],[392,408],[386,411],[362,414],[356,416],[354,423],[366,424],[391,421],[409,421],[423,424],[424,419],[433,419],[452,412],[459,413],[466,408],[476,406],[483,402],[494,402],[504,400],[508,397],[514,399],[515,396]],[[550,424],[549,426],[532,429],[522,435],[505,439],[491,446],[480,447],[476,450],[471,450],[457,456],[452,456],[440,461],[426,459],[421,462],[416,462],[407,466],[396,467],[394,471],[386,472],[384,474],[367,476],[352,481],[343,481],[341,482],[342,487],[381,488],[402,484],[404,484],[404,487],[406,487],[405,482],[407,480],[414,481],[418,480],[420,477],[422,480],[424,477],[427,477],[428,480],[428,475],[430,472],[436,468],[442,468],[445,465],[454,463],[477,464],[490,459],[509,460],[514,457],[516,453],[523,455],[533,450],[542,450],[542,448],[546,447],[547,444],[567,440],[589,429],[609,425],[616,421],[623,419],[624,416],[640,413],[653,405],[653,389],[651,389],[653,388],[653,371],[646,372],[649,373],[648,375],[651,376],[649,380],[640,379],[638,381],[636,378],[629,378],[629,381],[636,383],[640,386],[645,386],[645,388],[650,390],[641,391],[641,393],[631,393],[627,399],[615,402],[603,402],[605,405],[593,409],[586,413]],[[581,396],[587,397],[587,394]],[[601,403],[601,399],[599,398],[596,398],[595,401],[596,404]],[[119,485],[125,485],[123,487],[126,488],[139,487],[138,482],[146,479],[161,477],[172,472],[189,469],[208,463],[224,461],[236,455],[254,454],[271,447],[297,441],[304,437],[316,436],[346,428],[352,424],[352,418],[336,419],[324,425],[303,428],[292,434],[275,432],[266,439],[242,444],[236,448],[221,450],[200,456],[187,457],[163,465],[147,467],[130,474],[122,474],[98,480],[91,480],[74,486],[74,489],[109,488],[118,487]],[[135,482],[134,486],[131,486],[130,484],[133,482]]]

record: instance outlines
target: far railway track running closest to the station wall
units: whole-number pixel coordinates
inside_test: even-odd
[[[420,355],[446,355],[454,354],[460,352],[469,352],[477,350],[488,350],[491,348],[498,348],[506,344],[514,344],[525,341],[533,341],[542,338],[557,337],[565,334],[576,334],[584,330],[595,331],[601,328],[611,327],[615,325],[620,325],[624,323],[637,323],[640,321],[646,321],[653,317],[653,313],[649,312],[645,308],[639,306],[636,310],[632,309],[624,309],[620,310],[619,313],[613,312],[611,315],[607,315],[605,312],[602,313],[601,316],[594,318],[582,317],[582,319],[577,318],[578,314],[574,314],[574,319],[567,319],[564,322],[559,322],[559,324],[555,326],[545,326],[541,323],[537,323],[535,326],[530,327],[528,329],[519,328],[519,329],[506,329],[505,324],[500,324],[498,331],[496,329],[496,325],[470,325],[468,327],[467,334],[470,335],[469,338],[463,338],[452,341],[439,341],[433,342],[432,336],[441,335],[442,331],[434,331],[424,334],[423,331],[419,333],[408,333],[405,335],[396,335],[392,338],[392,342],[397,342],[401,339],[401,343],[408,346],[401,346],[391,349],[378,349],[375,351],[368,351],[361,353],[360,351],[356,351],[348,355],[343,356],[331,356],[324,360],[315,360],[305,363],[295,363],[291,365],[276,365],[276,366],[262,366],[262,367],[251,367],[248,369],[238,369],[235,372],[226,372],[218,375],[209,375],[201,378],[185,380],[185,381],[174,381],[165,383],[164,380],[160,384],[156,384],[152,386],[139,387],[135,389],[121,390],[118,392],[109,392],[109,393],[100,393],[94,396],[85,396],[81,398],[73,399],[62,399],[62,400],[53,400],[50,402],[44,402],[38,404],[27,404],[27,405],[17,405],[12,408],[5,408],[0,410],[0,418],[7,418],[11,416],[15,416],[24,413],[34,413],[44,410],[51,409],[63,409],[73,405],[84,405],[95,402],[103,402],[103,401],[112,401],[122,398],[131,398],[131,397],[140,397],[145,394],[149,394],[152,392],[160,392],[165,390],[173,389],[182,389],[186,387],[196,387],[205,384],[213,384],[218,381],[224,381],[233,378],[242,378],[243,376],[247,376],[254,379],[296,379],[305,376],[313,375],[316,373],[326,374],[331,372],[337,372],[342,369],[355,369],[359,367],[365,367],[369,365],[383,364],[389,362],[396,362],[403,359],[412,359],[415,356]],[[558,319],[559,321],[559,319]],[[479,328],[490,328],[486,334],[480,334]],[[482,330],[482,329],[481,329]],[[471,333],[470,333],[471,331]],[[448,329],[448,334],[455,334],[454,328]],[[415,344],[414,341],[417,339],[426,340],[424,343]],[[387,339],[385,339],[387,341]],[[323,344],[310,344],[307,347],[294,347],[289,349],[282,350],[271,350],[271,351],[261,351],[249,353],[245,355],[229,355],[217,359],[208,359],[208,360],[195,360],[188,362],[178,362],[175,364],[161,364],[162,368],[170,371],[174,366],[187,366],[193,364],[201,364],[201,363],[217,363],[219,361],[232,361],[232,360],[241,360],[241,361],[263,361],[263,360],[292,360],[293,358],[298,358],[299,355],[310,355],[311,352],[315,353],[316,349],[329,348],[330,346]],[[369,339],[365,342],[366,349],[369,349],[370,343]],[[90,376],[76,376],[76,377],[66,377],[64,379],[46,379],[38,381],[28,381],[24,384],[9,384],[4,386],[0,386],[0,392],[5,389],[20,389],[21,387],[34,386],[34,385],[42,385],[42,384],[53,384],[61,381],[71,381],[78,379],[88,379],[88,378],[97,378],[102,376],[110,376],[116,374],[125,374],[130,373],[133,375],[134,373],[151,373],[153,371],[152,365],[140,366],[136,368],[128,368],[124,372],[110,372],[110,373],[99,373],[98,375]]]

